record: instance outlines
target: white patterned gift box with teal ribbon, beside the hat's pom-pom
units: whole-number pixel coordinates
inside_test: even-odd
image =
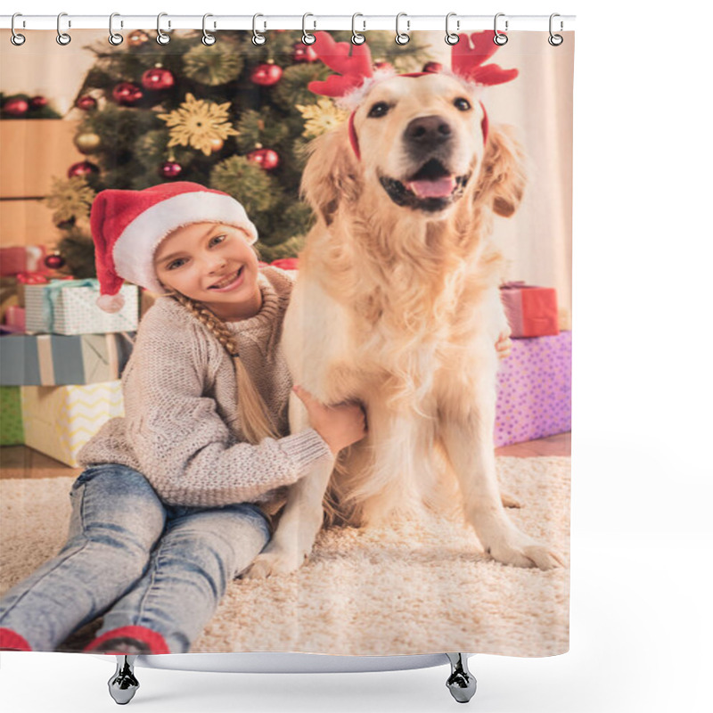
[[[109,314],[97,307],[99,282],[53,280],[49,284],[25,285],[28,332],[98,334],[134,332],[138,325],[138,288],[125,284],[120,294],[124,307]]]

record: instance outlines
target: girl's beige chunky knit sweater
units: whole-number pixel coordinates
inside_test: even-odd
[[[246,442],[231,357],[176,300],[157,299],[143,316],[122,375],[125,415],[104,424],[78,454],[83,466],[123,463],[140,471],[167,504],[213,507],[283,503],[311,463],[331,451],[314,429],[289,433],[291,376],[280,348],[293,278],[276,267],[258,275],[258,315],[227,323],[283,438]]]

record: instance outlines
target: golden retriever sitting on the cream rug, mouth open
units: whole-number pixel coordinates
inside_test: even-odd
[[[486,553],[548,570],[561,556],[517,529],[496,478],[496,341],[509,333],[489,242],[524,187],[506,127],[447,73],[376,82],[347,124],[313,143],[302,189],[317,222],[300,255],[283,348],[325,404],[359,401],[368,434],[291,486],[246,574],[297,570],[324,512],[361,527],[457,507]],[[350,132],[358,152],[350,143]],[[295,396],[291,429],[308,427]]]

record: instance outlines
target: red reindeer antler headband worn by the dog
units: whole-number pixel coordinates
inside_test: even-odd
[[[366,43],[362,45],[352,45],[348,42],[335,42],[329,32],[316,32],[316,42],[312,45],[317,56],[324,61],[331,70],[339,72],[332,74],[324,81],[310,82],[307,88],[315,94],[324,96],[346,98],[361,98],[361,90],[373,86],[373,81],[377,79],[373,73],[372,53]],[[483,64],[496,53],[498,46],[493,41],[494,32],[483,30],[473,32],[470,40],[468,35],[459,35],[459,42],[451,49],[451,71],[467,82],[479,86],[493,86],[510,82],[518,76],[518,70],[504,70],[497,64]],[[503,34],[503,33],[501,33]],[[472,42],[472,46],[471,46]],[[431,72],[412,72],[409,74],[393,75],[381,74],[381,77],[422,77]],[[353,103],[353,102],[351,102]],[[488,140],[488,113],[485,111],[483,102],[479,102],[483,109],[483,141]],[[356,111],[356,110],[355,110]],[[349,116],[349,140],[356,153],[356,158],[360,158],[359,144],[354,128],[354,114]]]

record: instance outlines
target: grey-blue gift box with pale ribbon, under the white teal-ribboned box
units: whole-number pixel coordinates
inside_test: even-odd
[[[64,386],[119,379],[135,332],[0,337],[0,384]]]

